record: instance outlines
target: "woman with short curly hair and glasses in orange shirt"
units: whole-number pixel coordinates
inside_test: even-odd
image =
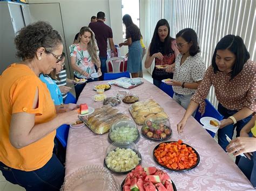
[[[77,105],[55,106],[39,74],[60,63],[62,37],[45,22],[33,23],[15,38],[17,56],[0,77],[0,169],[26,190],[59,190],[64,167],[52,154],[56,129],[77,121]]]

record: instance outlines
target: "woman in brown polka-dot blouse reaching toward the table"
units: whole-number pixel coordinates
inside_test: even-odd
[[[255,62],[249,60],[244,41],[239,36],[228,34],[222,38],[212,57],[212,65],[206,70],[204,79],[192,96],[183,119],[178,123],[178,132],[183,132],[188,117],[200,105],[205,110],[205,98],[211,86],[219,101],[218,111],[224,116],[218,130],[218,143],[226,150],[226,136],[233,137],[237,126],[237,137],[242,127],[250,121],[255,111]],[[234,125],[235,124],[235,125]],[[236,161],[236,163],[239,160]]]

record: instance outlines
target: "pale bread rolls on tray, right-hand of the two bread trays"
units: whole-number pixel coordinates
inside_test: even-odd
[[[169,118],[164,109],[154,100],[133,103],[129,111],[138,125],[143,125],[145,119],[149,117]]]

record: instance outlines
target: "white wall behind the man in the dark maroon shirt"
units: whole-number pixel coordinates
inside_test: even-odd
[[[112,28],[114,44],[119,44],[123,41],[121,0],[29,0],[29,4],[31,3],[59,3],[68,53],[75,34],[79,32],[82,26],[88,26],[91,16],[97,16],[99,11],[105,13],[105,24]],[[39,7],[37,9],[40,9]],[[52,19],[55,19],[54,15]],[[50,20],[48,21],[50,22]]]

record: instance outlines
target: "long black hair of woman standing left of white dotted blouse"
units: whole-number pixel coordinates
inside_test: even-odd
[[[164,54],[169,54],[171,51],[171,42],[174,40],[174,38],[170,37],[170,25],[167,22],[166,19],[160,19],[157,22],[156,28],[154,28],[154,34],[151,40],[150,44],[150,56],[152,56],[154,53],[159,52],[159,44],[160,44],[160,38],[158,35],[158,28],[160,26],[167,26],[168,34],[167,37],[164,39]]]

